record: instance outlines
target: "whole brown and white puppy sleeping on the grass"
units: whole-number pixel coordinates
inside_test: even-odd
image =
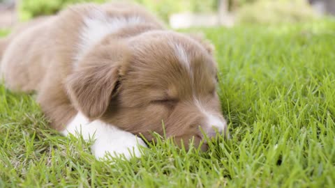
[[[92,152],[140,155],[138,134],[177,142],[225,132],[211,46],[166,30],[138,6],[84,4],[0,41],[1,75],[37,101],[62,134],[94,136]],[[204,148],[206,146],[204,145]]]

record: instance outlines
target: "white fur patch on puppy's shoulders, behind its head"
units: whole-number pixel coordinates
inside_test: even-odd
[[[97,42],[103,40],[110,33],[119,31],[129,25],[135,25],[145,22],[144,19],[137,16],[132,17],[110,17],[103,10],[95,8],[91,10],[89,16],[84,17],[84,26],[80,31],[80,42],[78,52],[74,57],[75,61],[80,60],[89,49],[94,47]]]

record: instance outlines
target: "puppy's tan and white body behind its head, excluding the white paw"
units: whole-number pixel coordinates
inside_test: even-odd
[[[142,19],[143,23],[127,25],[131,19]],[[135,35],[147,25],[161,28],[154,17],[138,7],[93,4],[75,6],[57,17],[34,21],[10,37],[13,39],[1,63],[6,86],[13,91],[37,91],[38,102],[52,126],[64,130],[77,113],[66,95],[64,83],[78,66],[78,58],[105,37],[119,37],[126,34],[121,30],[138,27]]]

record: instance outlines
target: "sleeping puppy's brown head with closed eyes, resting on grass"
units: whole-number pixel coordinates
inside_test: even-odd
[[[66,84],[77,109],[92,120],[149,140],[150,132],[163,134],[163,123],[177,143],[194,138],[197,145],[203,133],[226,134],[216,71],[211,47],[199,38],[150,31],[105,41],[83,58]]]

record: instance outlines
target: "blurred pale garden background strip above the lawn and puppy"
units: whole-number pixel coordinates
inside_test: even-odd
[[[147,7],[174,29],[309,22],[335,16],[335,0],[133,1]],[[103,3],[106,0],[0,0],[0,29],[10,29],[17,22],[52,15],[73,3],[82,2]]]

